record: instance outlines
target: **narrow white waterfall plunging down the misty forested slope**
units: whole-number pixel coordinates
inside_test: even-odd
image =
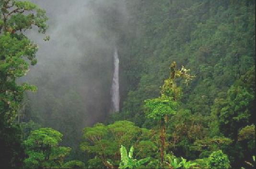
[[[112,82],[112,109],[114,112],[119,112],[119,59],[117,54],[117,49],[115,47],[114,52],[114,75],[113,75],[113,82]]]

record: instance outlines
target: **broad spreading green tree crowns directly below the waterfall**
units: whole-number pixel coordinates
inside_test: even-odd
[[[114,124],[103,125],[95,124],[93,127],[83,129],[84,141],[81,143],[81,150],[91,153],[92,159],[90,164],[97,163],[101,167],[113,168],[118,167],[120,163],[119,148],[122,145],[126,147],[134,146],[138,149],[136,158],[145,158],[149,153],[153,156],[156,150],[151,137],[154,133],[146,128],[134,126],[130,121],[116,121]],[[93,167],[93,166],[92,166]]]

